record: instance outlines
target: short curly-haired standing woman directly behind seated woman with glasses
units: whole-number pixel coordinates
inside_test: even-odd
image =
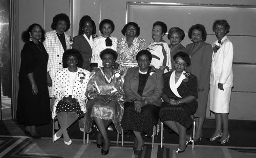
[[[185,33],[182,29],[178,27],[170,28],[168,32],[167,38],[170,40],[170,60],[171,63],[174,64],[174,56],[179,51],[185,51],[185,47],[180,43],[185,37]],[[171,71],[174,71],[175,69],[172,68]]]

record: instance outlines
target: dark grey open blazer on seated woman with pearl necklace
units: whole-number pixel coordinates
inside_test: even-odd
[[[148,76],[142,96],[137,91],[139,87],[139,67],[129,68],[124,77],[123,90],[126,101],[133,102],[134,99],[146,100],[148,104],[161,106],[163,93],[163,71],[155,68],[156,73]]]

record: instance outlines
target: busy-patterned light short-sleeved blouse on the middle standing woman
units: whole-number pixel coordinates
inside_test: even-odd
[[[126,37],[120,38],[117,41],[117,63],[119,68],[127,71],[130,67],[137,67],[136,55],[140,50],[146,48],[146,43],[143,38],[135,37],[132,45],[129,47],[126,42]]]

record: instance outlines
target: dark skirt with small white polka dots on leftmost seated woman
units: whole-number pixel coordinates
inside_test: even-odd
[[[63,100],[60,100],[56,107],[56,114],[60,112],[67,112],[67,113],[76,112],[78,117],[81,117],[83,114],[83,112],[81,111],[79,102],[77,101],[74,104],[70,105]]]

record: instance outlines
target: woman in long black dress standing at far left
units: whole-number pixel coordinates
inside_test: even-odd
[[[50,101],[47,88],[48,54],[44,45],[45,32],[37,23],[33,23],[23,32],[26,42],[21,52],[19,70],[19,91],[17,120],[24,124],[25,134],[39,139],[35,126],[49,123]]]

